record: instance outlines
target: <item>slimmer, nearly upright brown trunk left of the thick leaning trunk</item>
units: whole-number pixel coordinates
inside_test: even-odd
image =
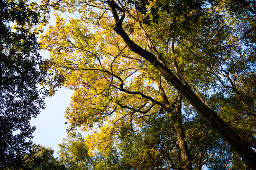
[[[185,141],[185,131],[182,123],[182,94],[178,93],[176,98],[176,112],[172,115],[174,127],[178,136],[178,143],[181,149],[181,159],[184,170],[193,170],[188,144]]]

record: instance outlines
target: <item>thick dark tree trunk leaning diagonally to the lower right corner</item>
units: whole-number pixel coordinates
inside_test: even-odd
[[[155,68],[157,68],[163,76],[180,92],[183,96],[192,104],[192,106],[198,111],[199,114],[205,119],[210,126],[219,133],[223,139],[225,139],[231,147],[242,157],[242,159],[250,166],[253,170],[256,170],[256,153],[250,148],[247,142],[243,141],[213,110],[207,107],[196,94],[193,93],[192,89],[183,85],[183,83],[171,72],[170,69],[166,68],[160,63],[156,57],[134,43],[126,34],[122,28],[122,21],[125,17],[125,11],[113,1],[108,1],[113,17],[116,21],[114,31],[119,34],[124,42],[128,45],[129,49],[148,62],[150,62]],[[117,15],[117,9],[122,12],[122,17],[119,19]]]

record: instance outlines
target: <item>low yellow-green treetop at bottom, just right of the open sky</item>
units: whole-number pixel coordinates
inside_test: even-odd
[[[80,133],[70,133],[59,146],[59,161],[67,170],[125,170],[114,146],[90,156],[85,138]]]

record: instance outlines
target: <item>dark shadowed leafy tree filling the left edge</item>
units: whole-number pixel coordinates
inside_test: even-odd
[[[23,0],[0,1],[0,167],[19,165],[32,145],[29,121],[44,108],[45,71],[32,26],[39,13]],[[14,25],[16,24],[16,25]],[[10,25],[14,25],[11,29]]]

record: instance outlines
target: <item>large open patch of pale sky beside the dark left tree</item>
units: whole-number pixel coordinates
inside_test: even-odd
[[[69,89],[61,88],[52,97],[45,100],[46,108],[41,111],[37,118],[31,120],[31,125],[36,127],[33,133],[33,142],[55,150],[55,157],[59,150],[58,144],[67,137],[68,127],[64,118],[65,108],[69,106],[73,92]]]

